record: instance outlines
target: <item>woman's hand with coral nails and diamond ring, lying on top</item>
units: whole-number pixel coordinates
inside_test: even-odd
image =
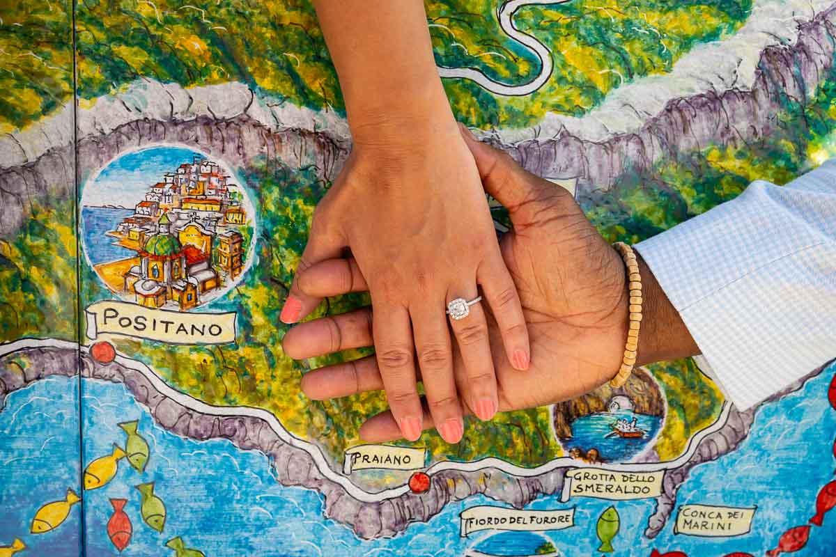
[[[362,327],[374,337],[380,387],[400,432],[421,436],[420,369],[432,421],[457,443],[464,428],[450,329],[461,355],[460,387],[479,418],[497,412],[497,385],[482,304],[448,325],[447,303],[484,296],[508,367],[528,368],[528,332],[470,149],[452,119],[429,122],[385,136],[354,130],[354,150],[314,212],[281,319],[295,323],[314,310],[322,294],[306,287],[304,271],[349,248],[375,307],[374,321],[366,313]],[[336,349],[345,338],[339,327],[330,331]],[[292,344],[288,354],[304,357]]]

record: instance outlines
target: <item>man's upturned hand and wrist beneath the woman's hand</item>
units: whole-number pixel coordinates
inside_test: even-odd
[[[469,134],[466,143],[485,189],[511,215],[513,230],[502,238],[502,256],[517,285],[531,339],[531,367],[517,372],[497,349],[502,339],[487,311],[499,409],[533,408],[598,387],[614,377],[624,352],[628,296],[623,261],[568,191],[529,174],[507,154]],[[645,322],[637,363],[696,353],[678,314],[641,261],[640,271],[645,282]],[[298,278],[309,296],[366,289],[353,260],[324,261]],[[371,322],[368,308],[324,317],[288,332],[284,349],[301,358],[368,346]],[[476,401],[458,352],[454,363],[458,392],[472,411]],[[309,397],[323,399],[380,389],[384,383],[374,357],[367,357],[308,372],[302,387]],[[425,427],[430,419],[425,415]],[[400,437],[388,412],[367,421],[360,434],[371,442]]]

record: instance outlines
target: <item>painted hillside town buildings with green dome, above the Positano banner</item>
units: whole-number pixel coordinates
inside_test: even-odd
[[[235,281],[244,261],[237,229],[247,211],[228,179],[217,164],[196,157],[150,185],[134,212],[105,232],[136,252],[94,266],[110,290],[141,306],[187,311]]]

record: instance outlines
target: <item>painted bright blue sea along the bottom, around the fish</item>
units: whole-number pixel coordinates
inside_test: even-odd
[[[639,539],[655,511],[655,501],[618,502],[621,524],[613,540],[614,555],[650,555],[658,547],[677,549],[691,557],[724,555],[745,550],[762,554],[772,549],[783,531],[807,524],[815,512],[818,490],[833,479],[833,437],[836,412],[827,402],[828,383],[836,366],[808,382],[780,403],[759,410],[752,434],[731,454],[691,471],[679,490],[677,504],[757,505],[752,533],[742,538],[706,539],[673,534],[672,520],[657,539]],[[84,463],[124,444],[117,423],[138,419],[139,431],[150,444],[144,473],[120,462],[115,479],[84,494],[86,555],[115,555],[106,524],[110,498],[125,498],[133,537],[125,555],[171,554],[166,540],[179,535],[187,547],[212,557],[462,555],[467,549],[512,554],[536,549],[550,541],[558,554],[580,557],[599,547],[595,524],[612,504],[598,499],[572,499],[561,504],[543,497],[529,509],[568,509],[576,506],[575,526],[542,534],[480,533],[459,536],[458,515],[477,504],[497,504],[484,497],[448,504],[427,523],[411,524],[390,539],[364,541],[343,524],[324,518],[324,500],[316,491],[285,488],[273,476],[268,458],[242,451],[223,440],[196,442],[157,426],[120,384],[49,378],[6,398],[0,412],[0,545],[14,537],[25,541],[27,554],[49,557],[79,554],[81,505],[46,534],[29,534],[33,515],[44,503],[64,499],[66,489],[78,489],[76,390],[82,401]],[[142,522],[135,485],[154,481],[155,494],[166,504],[165,530],[156,533]],[[80,492],[79,492],[80,493]],[[639,541],[637,541],[639,539]],[[813,528],[799,557],[832,556],[836,511],[823,527]],[[503,541],[504,540],[504,541]],[[504,551],[504,553],[503,553]],[[663,551],[664,552],[664,551]]]

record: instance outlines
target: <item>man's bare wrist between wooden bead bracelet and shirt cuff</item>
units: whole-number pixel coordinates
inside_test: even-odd
[[[643,366],[700,353],[679,311],[670,303],[639,252],[635,253],[641,275],[644,316],[639,333],[636,365]]]

